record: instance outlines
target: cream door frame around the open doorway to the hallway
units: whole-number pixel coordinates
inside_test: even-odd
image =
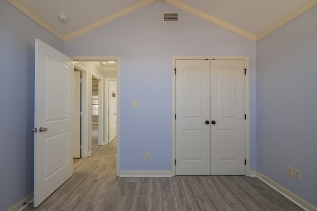
[[[116,141],[117,142],[117,150],[116,150],[117,151],[117,155],[116,155],[116,175],[119,176],[119,173],[120,173],[120,56],[69,56],[69,57],[72,58],[74,61],[104,61],[104,60],[116,60],[117,61],[117,141]],[[87,90],[87,87],[86,87],[86,90]],[[87,104],[88,104],[88,102],[86,102],[85,105],[87,106]],[[90,114],[90,112],[87,112],[87,111],[85,111],[85,112],[86,112],[85,115],[89,115]]]

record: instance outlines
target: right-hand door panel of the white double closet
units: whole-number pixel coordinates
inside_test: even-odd
[[[211,60],[211,175],[245,174],[242,60]]]

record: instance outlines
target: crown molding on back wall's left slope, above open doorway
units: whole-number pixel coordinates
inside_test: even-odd
[[[78,37],[80,35],[83,35],[83,34],[89,32],[89,31],[91,31],[93,29],[96,29],[96,28],[98,28],[100,26],[103,26],[106,23],[109,23],[109,22],[111,22],[111,21],[113,21],[113,20],[115,20],[115,19],[117,19],[119,17],[122,17],[122,16],[124,16],[124,15],[126,15],[126,14],[128,14],[130,12],[133,12],[133,11],[135,11],[137,9],[140,9],[141,7],[146,6],[146,5],[148,5],[150,3],[153,3],[153,2],[155,2],[155,0],[140,0],[137,3],[135,3],[135,4],[132,4],[131,6],[128,6],[128,7],[124,8],[124,9],[121,9],[121,10],[119,10],[119,11],[117,11],[117,12],[115,12],[115,13],[109,15],[109,16],[106,16],[105,18],[102,18],[102,19],[100,19],[98,21],[95,21],[94,23],[91,23],[91,24],[89,24],[87,26],[84,26],[84,27],[82,27],[82,28],[80,28],[78,30],[75,30],[75,31],[65,35],[64,36],[64,42],[69,41],[71,39],[74,39],[74,38],[76,38],[76,37]]]

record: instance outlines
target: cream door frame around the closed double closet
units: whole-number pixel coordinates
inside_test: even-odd
[[[172,176],[175,176],[175,71],[177,59],[188,60],[244,60],[247,68],[245,75],[245,112],[247,115],[245,121],[245,175],[250,176],[250,94],[249,94],[249,56],[172,56]],[[177,71],[177,70],[176,70]]]

